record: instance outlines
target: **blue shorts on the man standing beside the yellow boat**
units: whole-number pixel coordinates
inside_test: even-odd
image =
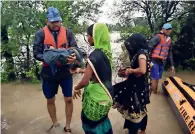
[[[151,68],[151,79],[152,80],[159,80],[162,78],[162,74],[164,71],[164,64],[163,63],[156,63],[152,62],[153,66]]]

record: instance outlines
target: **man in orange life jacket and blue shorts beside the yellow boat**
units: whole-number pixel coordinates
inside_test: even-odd
[[[170,38],[171,32],[172,25],[169,23],[165,23],[162,27],[162,30],[149,41],[149,51],[151,54],[152,61],[152,91],[155,94],[157,94],[158,82],[162,78],[164,64],[167,58],[169,58],[170,60],[171,72],[175,73]]]

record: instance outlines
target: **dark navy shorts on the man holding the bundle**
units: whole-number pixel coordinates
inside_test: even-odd
[[[47,99],[53,98],[58,93],[59,85],[62,88],[64,97],[72,97],[72,76],[68,76],[62,80],[42,80],[43,94]]]

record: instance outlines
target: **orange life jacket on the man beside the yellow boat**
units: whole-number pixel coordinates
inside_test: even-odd
[[[164,34],[157,34],[160,37],[160,43],[152,50],[152,58],[166,60],[171,45],[171,38]]]

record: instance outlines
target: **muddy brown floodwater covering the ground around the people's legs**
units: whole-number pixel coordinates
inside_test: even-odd
[[[165,75],[168,75],[165,74]],[[74,78],[78,82],[79,77]],[[176,76],[186,82],[195,84],[195,72],[180,72]],[[159,85],[160,87],[160,85]],[[65,125],[64,100],[61,90],[56,96],[57,117],[61,124],[58,131],[52,130],[50,134],[64,134]],[[40,84],[7,83],[1,85],[1,115],[2,134],[47,134],[46,130],[51,126],[48,116],[46,100],[41,91]],[[74,100],[74,112],[72,118],[72,133],[84,134],[81,121],[81,99]],[[124,119],[114,109],[109,113],[114,134],[123,133]],[[183,131],[164,95],[151,96],[151,104],[148,105],[147,134],[183,134]]]

